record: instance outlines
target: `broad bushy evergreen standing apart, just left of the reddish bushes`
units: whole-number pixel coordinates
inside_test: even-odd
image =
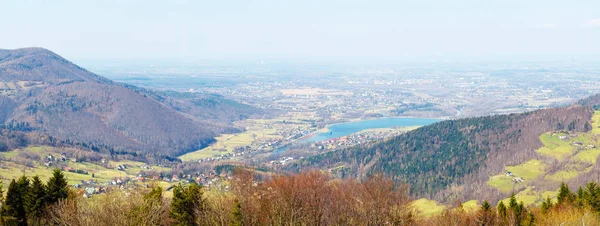
[[[198,225],[196,219],[204,210],[202,188],[195,183],[184,188],[181,184],[173,188],[169,217],[176,225]]]

